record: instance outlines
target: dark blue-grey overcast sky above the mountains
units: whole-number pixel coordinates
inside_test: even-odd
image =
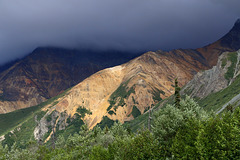
[[[198,48],[221,38],[240,0],[0,0],[0,64],[38,46]]]

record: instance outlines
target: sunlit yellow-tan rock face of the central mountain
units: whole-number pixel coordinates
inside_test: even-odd
[[[90,128],[103,116],[122,123],[129,121],[134,118],[133,106],[143,114],[174,93],[176,77],[183,86],[200,69],[207,68],[191,53],[147,52],[123,65],[104,69],[73,87],[54,108],[71,116],[80,106],[89,109],[92,114],[84,120]]]

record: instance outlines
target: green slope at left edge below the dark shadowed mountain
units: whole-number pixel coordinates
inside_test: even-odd
[[[37,106],[0,114],[0,135],[5,135],[2,144],[12,146],[16,143],[20,148],[25,148],[28,145],[28,141],[35,142],[33,132],[37,126],[36,121],[39,121],[46,114],[41,111],[41,108],[49,104],[56,104],[56,100],[64,96],[67,91]],[[51,121],[51,116],[48,117],[48,121]]]

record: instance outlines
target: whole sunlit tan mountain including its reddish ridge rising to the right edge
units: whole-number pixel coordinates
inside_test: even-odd
[[[47,142],[53,131],[57,135],[66,136],[79,131],[84,123],[89,128],[93,128],[96,125],[111,125],[114,121],[122,123],[131,121],[171,96],[174,93],[176,77],[182,87],[196,73],[217,64],[218,57],[223,52],[240,48],[240,44],[237,47],[238,43],[234,41],[239,39],[233,34],[237,32],[236,34],[239,35],[238,24],[237,21],[233,29],[223,38],[201,49],[147,52],[125,64],[101,70],[65,91],[61,96],[38,106],[38,110],[34,111],[35,114],[29,114],[29,110],[22,110],[21,115],[28,116],[26,118],[19,116],[20,127],[8,127],[6,130],[13,131],[7,135],[15,135],[15,137],[19,134],[27,135],[38,141]],[[228,37],[235,39],[230,43],[227,41]],[[229,59],[224,60],[225,70],[228,70],[229,65],[232,66]],[[228,73],[227,77],[231,74],[232,72]],[[232,78],[227,85],[231,81]],[[234,82],[231,82],[232,85],[235,84]],[[29,128],[29,126],[33,127]],[[28,134],[22,135],[26,128]],[[6,138],[7,140],[9,138]]]

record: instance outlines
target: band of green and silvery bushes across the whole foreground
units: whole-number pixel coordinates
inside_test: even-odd
[[[59,136],[55,148],[33,141],[25,148],[0,145],[0,159],[240,158],[240,108],[209,115],[189,97],[180,101],[180,108],[167,105],[155,111],[152,132],[142,129],[135,134],[120,123],[93,130],[82,125],[68,138]]]

